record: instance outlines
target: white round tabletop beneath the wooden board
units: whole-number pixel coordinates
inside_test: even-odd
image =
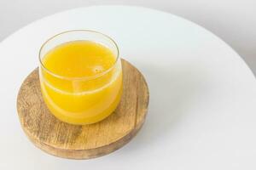
[[[61,31],[90,29],[116,40],[150,89],[146,123],[108,156],[49,156],[26,139],[16,114],[22,80],[38,49]],[[148,8],[78,8],[38,20],[0,43],[0,169],[255,169],[256,81],[243,60],[209,31]]]

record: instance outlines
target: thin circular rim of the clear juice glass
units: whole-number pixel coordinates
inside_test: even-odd
[[[116,59],[113,63],[113,65],[111,67],[108,68],[108,70],[106,71],[103,71],[101,73],[98,73],[96,74],[95,76],[84,76],[84,77],[65,77],[65,76],[61,76],[59,74],[56,74],[55,72],[53,71],[49,71],[49,69],[44,65],[42,59],[41,59],[41,54],[42,54],[42,50],[43,48],[45,47],[45,45],[53,40],[55,37],[58,37],[58,36],[61,36],[62,34],[66,34],[66,33],[69,33],[69,32],[76,32],[76,31],[82,31],[82,32],[91,32],[91,33],[96,33],[98,35],[101,35],[103,37],[107,37],[108,40],[110,40],[111,42],[113,42],[113,45],[114,47],[116,48],[117,50],[117,54],[116,54]],[[102,32],[99,32],[99,31],[92,31],[92,30],[86,30],[86,29],[82,29],[82,30],[69,30],[69,31],[62,31],[58,34],[55,34],[55,36],[53,37],[49,37],[49,39],[47,39],[43,45],[41,46],[41,48],[39,49],[39,55],[38,55],[38,58],[39,58],[39,62],[40,62],[40,65],[42,66],[42,68],[44,69],[44,71],[47,71],[50,75],[54,76],[54,77],[57,77],[57,78],[60,78],[60,79],[64,79],[64,80],[93,80],[93,79],[96,79],[97,77],[102,77],[104,76],[105,74],[107,74],[109,71],[112,71],[113,70],[113,67],[117,64],[118,60],[119,60],[119,47],[117,45],[116,42],[114,42],[113,38],[112,37],[109,37],[108,35],[106,34],[103,34]]]

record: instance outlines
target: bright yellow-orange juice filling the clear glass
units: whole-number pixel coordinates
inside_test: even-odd
[[[90,41],[66,42],[45,54],[42,63],[47,68],[40,68],[44,101],[61,121],[99,122],[119,104],[121,63],[109,48]]]

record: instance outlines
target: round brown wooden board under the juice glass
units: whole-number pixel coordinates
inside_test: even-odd
[[[116,111],[95,124],[77,126],[53,116],[40,91],[38,69],[20,87],[17,110],[21,127],[41,150],[70,159],[107,155],[128,143],[143,126],[148,111],[148,86],[143,75],[122,59],[124,91]]]

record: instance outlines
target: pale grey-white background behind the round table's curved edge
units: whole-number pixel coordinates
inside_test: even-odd
[[[156,8],[192,20],[229,43],[256,73],[254,0],[0,0],[0,41],[49,14],[99,4]]]

